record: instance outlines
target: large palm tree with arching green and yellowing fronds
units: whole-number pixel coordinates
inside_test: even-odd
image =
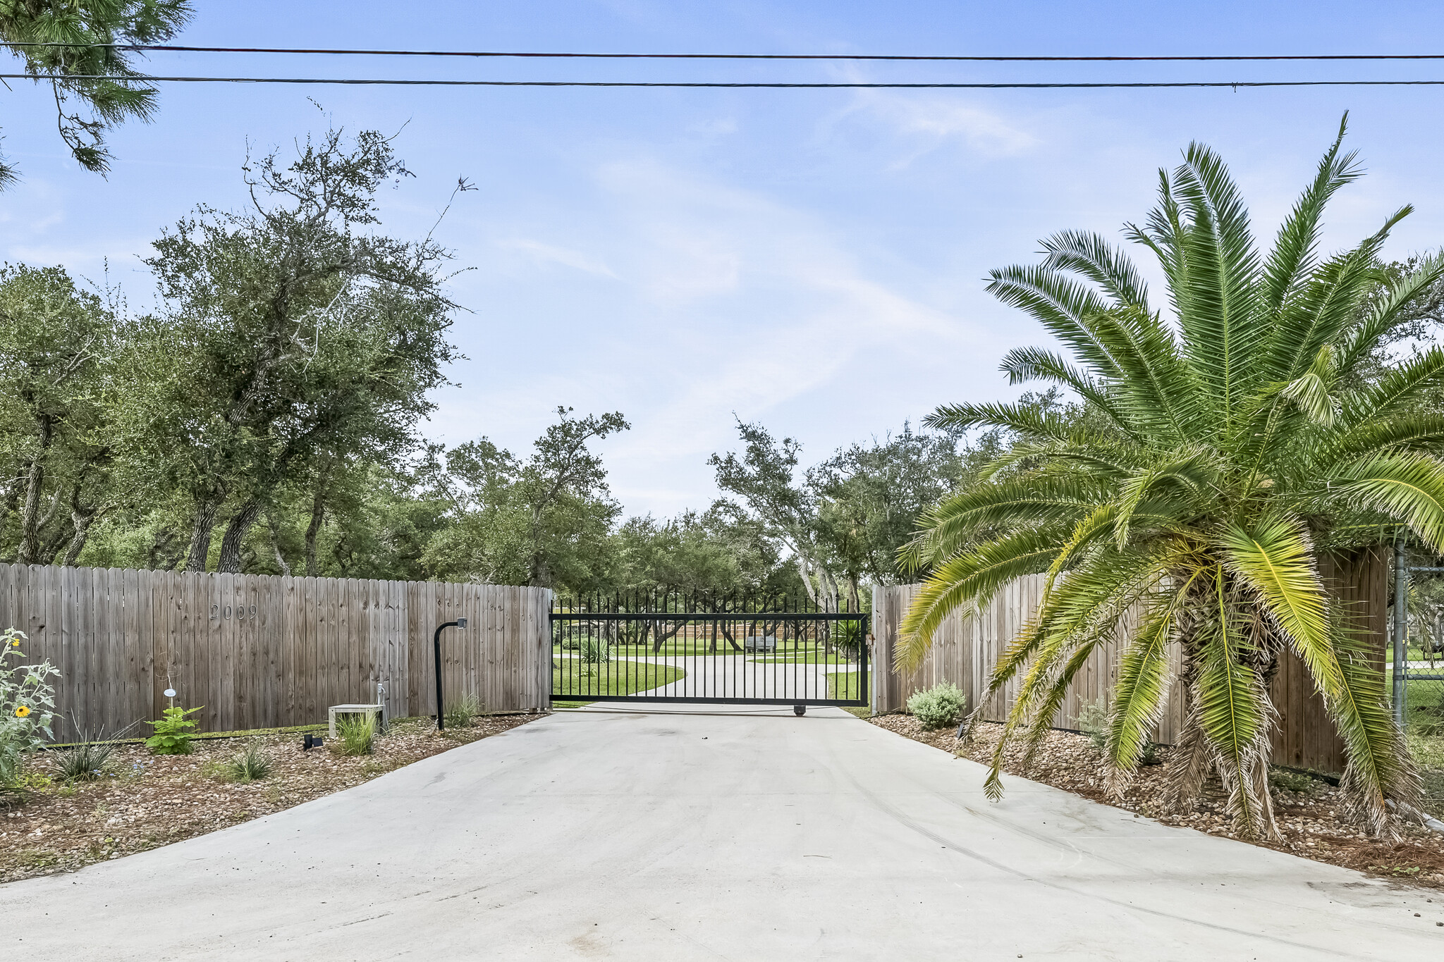
[[[1370,834],[1392,832],[1385,800],[1417,796],[1380,671],[1326,593],[1317,552],[1404,531],[1444,551],[1444,415],[1418,404],[1444,378],[1444,352],[1367,376],[1444,257],[1402,277],[1380,270],[1379,248],[1409,208],[1356,248],[1318,257],[1324,206],[1359,176],[1354,154],[1340,154],[1343,136],[1344,124],[1268,257],[1209,147],[1191,144],[1171,176],[1160,172],[1158,206],[1123,232],[1158,258],[1168,319],[1135,265],[1093,234],[1057,234],[1040,265],[992,273],[989,290],[1071,355],[1018,349],[1002,369],[1014,384],[1076,392],[1087,412],[959,404],[928,420],[1022,440],[904,548],[905,562],[933,565],[902,625],[904,666],[921,661],[947,614],[976,610],[1018,575],[1047,574],[1035,617],[989,676],[988,695],[1019,678],[992,798],[1005,747],[1022,738],[1031,757],[1073,675],[1129,610],[1136,629],[1105,753],[1112,793],[1158,723],[1175,642],[1188,700],[1170,763],[1175,808],[1190,808],[1217,770],[1236,831],[1276,838],[1268,681],[1287,649],[1346,743],[1352,813]]]

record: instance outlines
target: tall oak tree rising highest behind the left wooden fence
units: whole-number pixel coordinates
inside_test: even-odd
[[[309,479],[322,518],[347,464],[413,447],[453,304],[445,250],[374,229],[377,190],[406,176],[381,134],[331,130],[289,164],[247,164],[253,209],[199,206],[156,241],[166,309],[142,325],[123,434],[163,451],[155,486],[191,502],[188,570],[225,515],[217,570],[238,571],[286,485]]]

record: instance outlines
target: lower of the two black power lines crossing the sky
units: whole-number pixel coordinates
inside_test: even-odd
[[[1035,84],[892,84],[892,82],[761,82],[761,81],[443,81],[370,79],[329,76],[147,76],[77,74],[0,74],[19,81],[124,81],[129,84],[334,84],[362,87],[708,87],[764,89],[1099,89],[1099,88],[1209,88],[1209,87],[1444,87],[1444,81],[1136,81],[1136,82],[1035,82]]]

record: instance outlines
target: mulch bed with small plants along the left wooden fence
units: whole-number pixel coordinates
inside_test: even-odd
[[[175,756],[121,746],[94,782],[32,777],[40,787],[0,799],[0,883],[74,871],[270,815],[539,717],[490,715],[443,734],[429,718],[399,720],[377,737],[373,754],[355,757],[334,754],[329,738],[302,751],[299,734],[196,740],[191,754]],[[238,785],[227,767],[251,741],[263,746],[271,772]],[[55,753],[42,751],[32,772],[51,776],[53,764]]]

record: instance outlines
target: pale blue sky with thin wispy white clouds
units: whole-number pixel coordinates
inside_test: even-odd
[[[199,1],[179,39],[218,46],[630,52],[1431,52],[1428,3],[269,3]],[[505,63],[156,55],[156,74],[617,79],[1444,78],[1406,65]],[[734,412],[809,460],[941,402],[1014,397],[998,361],[1041,330],[992,301],[992,267],[1063,228],[1116,237],[1190,140],[1217,147],[1265,235],[1344,110],[1369,176],[1333,208],[1330,245],[1418,212],[1388,254],[1444,238],[1444,88],[1212,91],[684,91],[165,85],[156,123],[118,130],[108,179],[75,169],[48,95],[0,91],[23,183],[0,195],[0,260],[110,277],[143,309],[140,257],[198,202],[238,206],[247,144],[403,128],[417,177],[387,229],[438,235],[465,268],[459,384],[427,433],[526,450],[557,404],[621,410],[602,444],[627,511],[715,496],[706,457]]]

